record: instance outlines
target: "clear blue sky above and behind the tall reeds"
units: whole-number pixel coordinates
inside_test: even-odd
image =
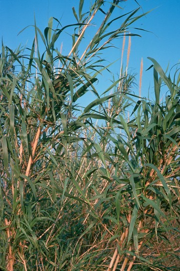
[[[27,43],[30,46],[34,38],[33,28],[26,29],[18,36],[17,34],[24,27],[34,24],[34,15],[36,25],[42,32],[47,26],[49,17],[59,19],[65,26],[74,22],[71,8],[77,7],[78,2],[78,0],[0,0],[0,38],[2,37],[4,45],[11,49],[15,49],[19,44]],[[137,73],[136,83],[138,84],[140,61],[143,58],[142,96],[147,96],[149,86],[149,92],[153,92],[152,70],[145,71],[151,65],[147,57],[154,58],[163,69],[166,69],[168,64],[172,67],[180,60],[180,0],[137,0],[137,2],[142,8],[139,15],[142,11],[147,12],[156,8],[133,24],[133,27],[142,28],[151,33],[138,32],[141,38],[132,37],[128,65],[130,71]],[[91,0],[84,0],[84,10],[88,11],[90,3]],[[138,7],[134,0],[127,0],[120,5],[124,10],[118,9],[117,16]],[[131,33],[134,32],[132,29]],[[116,44],[119,48],[110,55],[112,60],[120,58],[121,42],[120,40],[119,44]],[[65,50],[64,45],[63,50]],[[119,66],[120,59],[112,67],[114,73],[119,72]],[[138,94],[138,90],[136,91]]]

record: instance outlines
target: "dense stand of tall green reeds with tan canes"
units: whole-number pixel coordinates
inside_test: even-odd
[[[128,29],[144,16],[114,17],[120,2],[96,0],[84,13],[80,0],[75,24],[50,18],[44,33],[34,24],[31,48],[2,44],[1,270],[178,269],[180,74],[149,58],[154,100],[132,91],[122,66],[99,95],[105,53],[138,35]],[[94,100],[80,106],[89,91]]]

